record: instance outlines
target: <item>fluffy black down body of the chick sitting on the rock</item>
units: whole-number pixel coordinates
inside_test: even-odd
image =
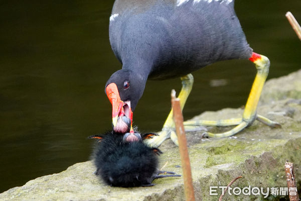
[[[152,183],[158,157],[141,141],[123,142],[122,135],[112,132],[96,144],[93,154],[96,174],[112,186],[143,186]]]

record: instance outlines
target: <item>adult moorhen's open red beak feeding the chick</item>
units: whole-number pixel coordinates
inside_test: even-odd
[[[125,109],[125,106],[127,106],[127,104],[124,103],[120,99],[117,85],[115,83],[110,83],[109,85],[107,85],[105,90],[106,90],[106,94],[112,104],[112,122],[113,122],[114,128],[117,125],[118,117],[126,116],[127,118],[130,119],[130,133],[134,133],[134,131],[132,129],[133,113],[131,111],[130,106],[128,106]],[[125,131],[125,132],[127,132],[127,131]]]

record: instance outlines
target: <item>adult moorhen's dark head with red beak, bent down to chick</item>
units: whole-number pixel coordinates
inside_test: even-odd
[[[132,111],[142,96],[144,87],[142,77],[128,69],[113,73],[105,85],[106,95],[112,104],[113,130],[122,134],[131,133],[127,141],[139,140],[132,129]]]

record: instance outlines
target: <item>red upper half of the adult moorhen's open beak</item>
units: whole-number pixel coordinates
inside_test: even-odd
[[[120,99],[117,85],[115,83],[110,83],[106,87],[106,94],[112,104],[112,122],[115,127],[117,124],[118,115],[121,112],[123,101]]]

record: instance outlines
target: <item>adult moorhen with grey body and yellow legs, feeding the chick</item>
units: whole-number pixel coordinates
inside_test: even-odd
[[[225,133],[208,133],[211,137],[232,136],[255,119],[271,127],[280,126],[256,114],[270,63],[247,43],[234,11],[234,0],[116,0],[109,35],[122,69],[111,75],[105,91],[112,104],[113,129],[130,132],[128,141],[138,140],[131,128],[132,111],[147,79],[181,77],[179,98],[183,109],[193,84],[190,73],[228,59],[249,59],[257,68],[242,118],[185,125],[236,125]],[[148,140],[148,145],[158,147],[169,137],[178,144],[174,127],[171,111],[160,135]]]

